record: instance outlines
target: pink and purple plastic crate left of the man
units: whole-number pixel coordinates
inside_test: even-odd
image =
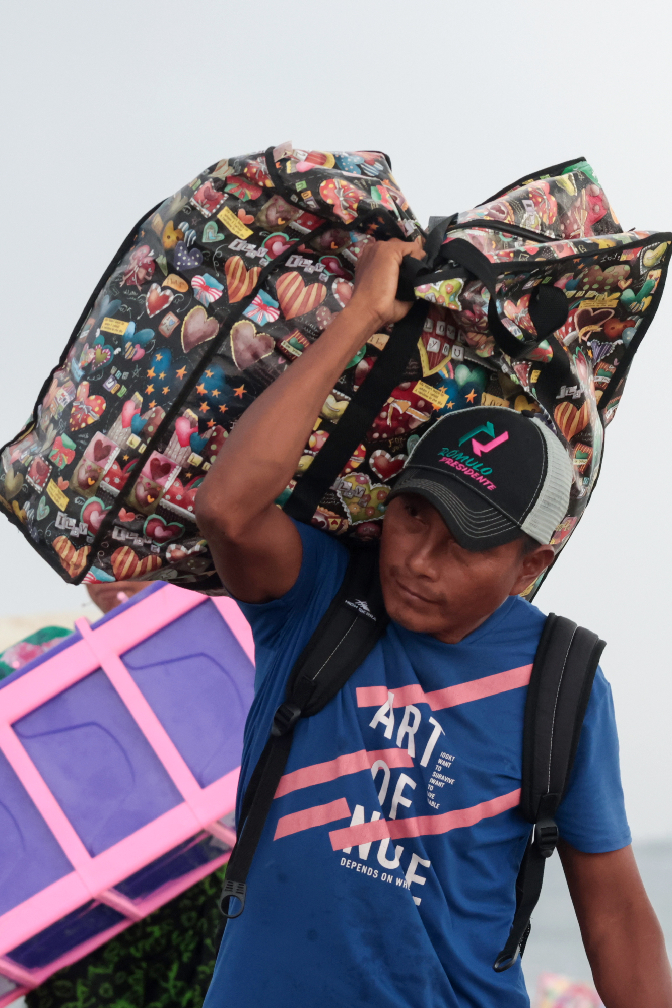
[[[250,627],[171,585],[0,684],[0,1008],[229,860]]]

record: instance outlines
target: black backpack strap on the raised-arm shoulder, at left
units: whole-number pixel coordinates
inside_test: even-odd
[[[354,547],[343,584],[287,681],[285,701],[275,712],[271,735],[245,791],[238,841],[227,866],[220,907],[226,919],[245,907],[247,876],[291,749],[294,726],[332,700],[385,633],[378,577],[378,549]],[[229,912],[231,899],[240,906]]]

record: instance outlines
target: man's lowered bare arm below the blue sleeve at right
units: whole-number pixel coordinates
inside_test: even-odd
[[[672,1008],[665,939],[632,847],[583,854],[560,843],[558,853],[606,1008]]]

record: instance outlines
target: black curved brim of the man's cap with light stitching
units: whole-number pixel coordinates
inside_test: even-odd
[[[503,546],[523,532],[498,508],[488,504],[449,473],[430,469],[405,469],[397,479],[387,502],[400,494],[418,494],[436,508],[458,544],[475,552]]]

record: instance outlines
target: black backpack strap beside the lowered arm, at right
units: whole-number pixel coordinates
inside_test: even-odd
[[[569,783],[592,680],[604,641],[571,620],[547,617],[525,706],[520,810],[534,824],[516,881],[516,913],[495,961],[502,973],[522,956],[544,866],[558,842],[555,813]]]

